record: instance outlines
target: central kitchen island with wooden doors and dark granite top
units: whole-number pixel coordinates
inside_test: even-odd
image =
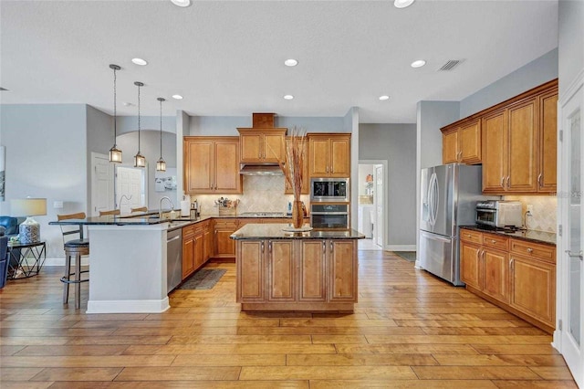
[[[352,229],[287,232],[287,227],[246,224],[231,235],[241,309],[352,311],[357,239],[365,236]]]

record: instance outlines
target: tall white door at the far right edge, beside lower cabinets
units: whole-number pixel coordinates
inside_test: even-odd
[[[558,129],[563,130],[562,142],[558,143],[561,155],[558,183],[560,206],[560,226],[562,236],[558,250],[558,331],[559,351],[579,387],[584,387],[584,347],[582,343],[584,321],[582,310],[582,173],[584,163],[584,131],[582,131],[582,111],[584,110],[584,86],[582,79],[576,84],[576,91],[570,93],[568,101],[560,103]],[[569,91],[570,89],[568,89]],[[574,89],[571,89],[574,90]],[[560,138],[561,139],[561,138]]]

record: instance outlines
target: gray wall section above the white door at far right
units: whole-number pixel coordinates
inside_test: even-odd
[[[559,97],[584,68],[584,2],[558,2]]]

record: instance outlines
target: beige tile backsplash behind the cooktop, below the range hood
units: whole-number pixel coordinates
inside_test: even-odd
[[[293,195],[284,194],[283,175],[244,175],[244,193],[242,195],[191,195],[191,201],[197,200],[203,215],[217,215],[214,201],[219,197],[229,200],[239,199],[237,214],[244,212],[287,212],[288,202]],[[302,195],[300,200],[309,205],[310,196]]]

